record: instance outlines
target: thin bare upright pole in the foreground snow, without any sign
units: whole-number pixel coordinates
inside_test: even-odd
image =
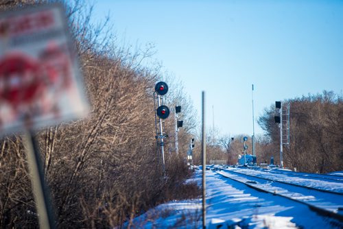
[[[204,91],[202,91],[202,228],[206,228],[206,132]]]

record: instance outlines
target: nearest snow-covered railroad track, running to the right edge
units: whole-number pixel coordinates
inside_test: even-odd
[[[314,212],[343,222],[343,194],[323,189],[314,189],[298,184],[290,184],[257,176],[239,173],[238,171],[217,170],[221,176],[246,184],[252,189],[271,193],[305,204]]]

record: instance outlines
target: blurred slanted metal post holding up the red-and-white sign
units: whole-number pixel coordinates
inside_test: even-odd
[[[45,184],[42,160],[38,151],[38,144],[33,132],[25,133],[25,146],[27,148],[27,163],[31,175],[32,191],[38,213],[40,228],[56,228],[51,198]]]

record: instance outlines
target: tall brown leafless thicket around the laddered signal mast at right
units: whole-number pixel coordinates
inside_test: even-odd
[[[324,91],[289,99],[290,144],[284,149],[284,165],[298,171],[328,173],[343,169],[342,95]],[[274,107],[265,110],[259,124],[278,151],[279,128],[274,123]]]

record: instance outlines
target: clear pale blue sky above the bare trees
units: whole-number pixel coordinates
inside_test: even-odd
[[[94,2],[123,43],[155,45],[199,117],[206,92],[206,123],[214,113],[222,134],[252,134],[252,84],[255,120],[275,101],[342,93],[343,1]]]

